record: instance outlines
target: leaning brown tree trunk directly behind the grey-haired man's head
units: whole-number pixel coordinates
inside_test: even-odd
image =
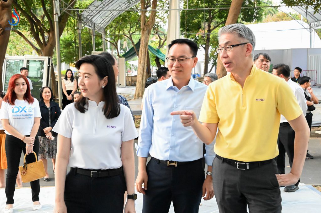
[[[243,0],[232,0],[229,14],[225,22],[225,26],[230,24],[235,24],[238,21],[242,4],[243,4]],[[222,78],[227,74],[225,67],[223,66],[223,63],[221,61],[220,54],[217,56],[216,74],[218,78]]]

